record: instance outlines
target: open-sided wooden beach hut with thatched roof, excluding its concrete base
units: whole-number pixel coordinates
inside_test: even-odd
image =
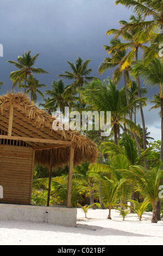
[[[53,121],[52,115],[22,93],[0,97],[0,203],[31,204],[37,163],[49,166],[49,203],[52,168],[69,164],[67,208],[71,207],[73,165],[95,162],[98,150],[95,143],[76,131],[54,131]]]

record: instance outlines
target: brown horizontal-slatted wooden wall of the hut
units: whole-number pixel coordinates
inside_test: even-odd
[[[33,149],[0,144],[0,203],[30,204],[34,168]]]

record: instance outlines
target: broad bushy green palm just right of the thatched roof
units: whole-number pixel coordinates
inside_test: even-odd
[[[95,79],[90,84],[85,84],[83,88],[80,88],[80,93],[83,100],[89,105],[88,109],[111,112],[111,125],[116,145],[118,144],[118,127],[122,127],[122,123],[125,122],[130,129],[138,131],[135,123],[124,116],[130,113],[131,107],[139,105],[140,102],[146,102],[145,97],[136,99],[127,105],[125,87],[118,90],[116,83],[112,82],[110,77],[103,83]]]

